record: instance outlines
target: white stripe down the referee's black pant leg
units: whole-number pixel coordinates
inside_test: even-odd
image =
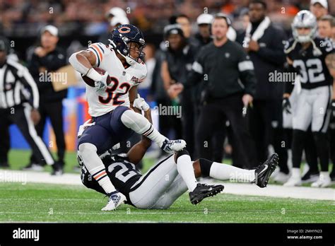
[[[30,119],[30,110],[31,110],[30,105],[24,106],[25,119],[27,120],[28,123],[29,134],[32,137],[33,141],[35,142],[37,148],[39,148],[40,152],[42,153],[43,158],[45,158],[45,162],[47,163],[47,165],[53,165],[54,159],[52,158],[51,153],[49,153],[49,151],[47,150],[47,146],[45,146],[45,143],[43,143],[40,136],[37,135],[33,120]]]

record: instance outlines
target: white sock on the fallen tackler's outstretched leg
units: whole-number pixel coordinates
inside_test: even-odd
[[[209,177],[216,180],[230,180],[233,182],[254,182],[254,170],[236,168],[233,165],[213,162]]]

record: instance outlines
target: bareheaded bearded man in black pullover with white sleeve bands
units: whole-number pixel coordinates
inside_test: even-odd
[[[252,168],[256,164],[252,151],[254,144],[247,129],[244,108],[252,103],[256,78],[252,61],[243,48],[228,40],[229,25],[227,16],[218,14],[214,17],[211,27],[214,40],[199,51],[184,89],[188,90],[189,86],[204,79],[202,107],[196,127],[199,156],[211,159],[213,148],[222,148],[212,146],[211,138],[229,120],[233,129],[233,151],[239,156],[239,163]]]

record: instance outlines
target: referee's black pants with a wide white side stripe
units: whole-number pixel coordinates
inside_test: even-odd
[[[40,163],[54,164],[54,159],[49,152],[47,146],[42,141],[34,127],[33,120],[30,118],[31,106],[28,103],[12,107],[9,109],[0,109],[0,162],[7,162],[9,145],[8,129],[11,124],[16,124],[20,129],[21,134],[33,150],[33,155],[36,156]],[[4,141],[2,136],[5,137]]]

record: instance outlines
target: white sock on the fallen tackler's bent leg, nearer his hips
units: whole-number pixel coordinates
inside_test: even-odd
[[[189,188],[189,191],[192,192],[198,182],[196,182],[193,163],[189,155],[182,155],[177,158],[177,170],[186,183],[187,188]]]

